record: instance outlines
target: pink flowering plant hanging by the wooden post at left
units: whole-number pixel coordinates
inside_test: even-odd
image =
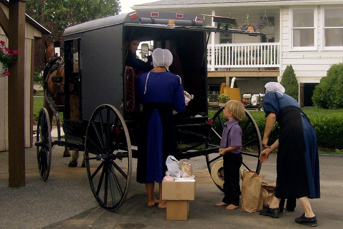
[[[8,66],[17,58],[18,51],[11,50],[0,40],[0,77],[8,76]]]

